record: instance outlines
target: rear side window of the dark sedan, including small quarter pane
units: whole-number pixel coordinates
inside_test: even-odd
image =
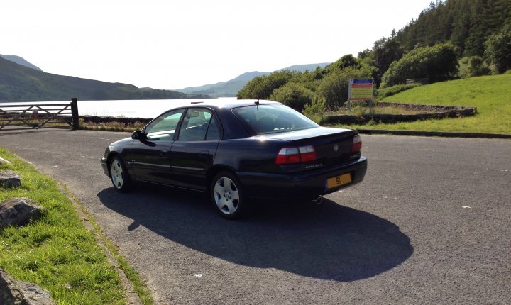
[[[218,140],[218,124],[211,111],[198,108],[188,109],[177,139],[189,141]]]

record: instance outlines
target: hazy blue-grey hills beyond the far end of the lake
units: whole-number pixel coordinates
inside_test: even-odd
[[[317,67],[326,67],[330,65],[330,62],[322,62],[319,64],[309,64],[309,65],[294,65],[291,67],[287,67],[280,70],[292,70],[292,71],[314,71]],[[278,70],[278,71],[280,71]],[[245,72],[238,77],[231,79],[226,82],[217,82],[216,84],[205,84],[204,86],[199,87],[187,87],[184,89],[176,89],[175,91],[179,91],[185,94],[207,94],[211,97],[229,97],[236,96],[238,91],[245,86],[247,82],[249,82],[254,77],[258,77],[261,75],[268,75],[271,72]]]

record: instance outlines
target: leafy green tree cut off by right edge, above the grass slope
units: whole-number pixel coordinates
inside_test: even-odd
[[[485,56],[499,73],[511,69],[511,23],[485,41]]]

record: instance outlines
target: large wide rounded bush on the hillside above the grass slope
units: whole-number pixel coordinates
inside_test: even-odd
[[[406,79],[425,78],[430,83],[454,79],[458,72],[456,48],[449,43],[417,48],[396,62],[383,74],[381,88],[405,84]]]

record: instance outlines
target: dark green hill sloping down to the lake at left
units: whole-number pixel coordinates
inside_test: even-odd
[[[92,79],[50,74],[38,68],[18,65],[11,60],[0,57],[0,101],[65,101],[72,97],[87,101],[203,99],[209,96],[184,94],[171,90],[139,89],[131,84],[100,82]]]

